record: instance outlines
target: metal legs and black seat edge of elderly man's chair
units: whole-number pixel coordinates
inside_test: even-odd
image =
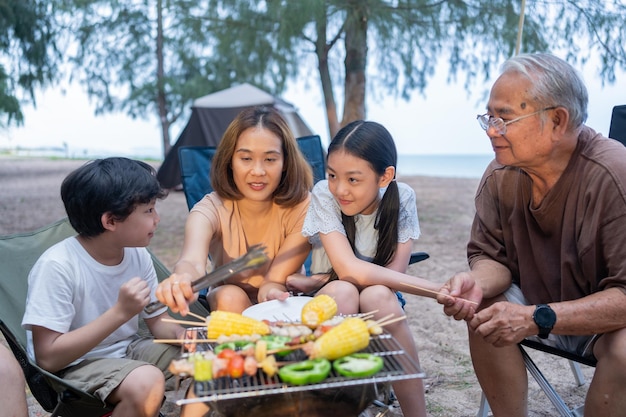
[[[567,406],[567,404],[565,404],[561,396],[556,392],[554,387],[550,384],[548,379],[539,370],[539,367],[535,364],[535,362],[528,355],[528,352],[526,352],[526,349],[527,348],[536,349],[536,350],[545,352],[550,355],[556,355],[561,358],[568,359],[570,368],[572,370],[572,373],[574,374],[574,379],[576,380],[576,383],[578,386],[585,384],[585,377],[583,376],[581,372],[579,364],[583,364],[583,365],[587,365],[587,366],[591,366],[595,368],[596,366],[595,359],[590,360],[587,358],[583,358],[582,356],[578,356],[570,352],[566,352],[566,351],[554,348],[552,346],[547,346],[547,345],[541,344],[539,342],[536,342],[530,339],[524,339],[518,346],[522,353],[522,358],[524,359],[524,365],[526,365],[526,369],[535,379],[535,381],[537,382],[541,390],[546,394],[550,402],[552,402],[552,404],[554,405],[554,407],[559,413],[558,415],[562,417],[582,416],[583,411],[584,411],[584,405],[570,409]],[[487,398],[485,397],[485,394],[483,393],[481,400],[480,400],[480,408],[478,409],[478,414],[476,414],[476,416],[487,417],[488,413],[489,413],[489,403],[487,402]]]

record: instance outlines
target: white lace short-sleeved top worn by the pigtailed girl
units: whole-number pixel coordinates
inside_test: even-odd
[[[385,188],[380,190],[380,195],[385,193]],[[400,193],[400,216],[398,218],[398,242],[404,243],[409,239],[417,239],[420,235],[415,191],[408,185],[399,182]],[[376,254],[378,242],[378,230],[374,229],[376,213],[355,216],[356,226],[356,256],[370,262]],[[340,232],[344,236],[346,231],[341,223],[341,208],[328,189],[328,181],[322,180],[315,184],[311,195],[311,204],[307,211],[302,235],[309,238],[313,245],[311,259],[311,273],[327,273],[331,269],[330,260],[326,256],[319,234]]]

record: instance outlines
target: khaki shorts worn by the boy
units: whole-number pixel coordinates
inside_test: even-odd
[[[152,338],[138,338],[126,349],[125,358],[86,359],[62,370],[59,376],[104,403],[128,374],[140,366],[154,365],[159,368],[165,376],[166,389],[173,389],[176,378],[167,368],[178,356],[180,347],[157,344]]]

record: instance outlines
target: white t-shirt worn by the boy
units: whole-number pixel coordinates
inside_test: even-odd
[[[50,247],[37,260],[28,276],[28,296],[22,327],[27,330],[28,354],[35,358],[31,326],[67,333],[100,317],[118,299],[119,289],[133,277],[145,279],[156,300],[158,285],[152,259],[146,248],[125,248],[119,265],[102,265],[93,259],[76,237]],[[121,358],[136,337],[139,317],[155,317],[165,311],[143,312],[117,328],[95,348],[72,362],[88,358]]]

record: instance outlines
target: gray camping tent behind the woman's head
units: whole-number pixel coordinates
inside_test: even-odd
[[[296,108],[286,101],[254,87],[240,84],[194,100],[187,126],[167,153],[157,178],[164,188],[181,183],[178,149],[182,146],[217,146],[226,128],[242,110],[267,105],[275,107],[285,118],[295,137],[313,134]]]

